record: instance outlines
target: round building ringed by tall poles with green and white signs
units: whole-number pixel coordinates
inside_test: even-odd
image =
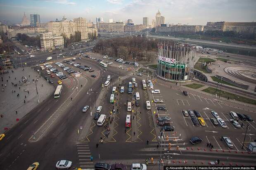
[[[194,70],[194,44],[159,42],[156,75],[173,82],[190,81]]]

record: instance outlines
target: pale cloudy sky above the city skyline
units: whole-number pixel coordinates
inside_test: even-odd
[[[41,23],[83,17],[94,23],[132,19],[142,24],[148,17],[155,19],[158,9],[165,22],[206,25],[207,21],[256,21],[256,0],[0,0],[0,21],[21,23],[24,12],[40,14]]]

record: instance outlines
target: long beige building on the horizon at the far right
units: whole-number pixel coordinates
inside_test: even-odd
[[[207,22],[205,30],[235,31],[236,33],[256,33],[256,22]]]

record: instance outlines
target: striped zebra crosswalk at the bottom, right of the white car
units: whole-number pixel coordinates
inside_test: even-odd
[[[91,161],[91,152],[88,142],[78,142],[76,143],[79,165],[83,169],[93,169],[94,163]]]

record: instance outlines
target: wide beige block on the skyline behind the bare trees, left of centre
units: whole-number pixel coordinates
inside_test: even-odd
[[[123,22],[99,23],[99,32],[123,33]]]

